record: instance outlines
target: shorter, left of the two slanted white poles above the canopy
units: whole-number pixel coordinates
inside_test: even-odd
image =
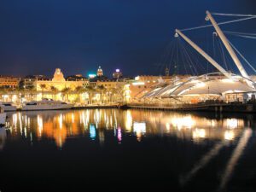
[[[178,29],[176,29],[175,32],[176,32],[176,34],[175,34],[176,37],[177,37],[177,35],[180,35],[188,44],[190,44],[196,51],[198,51],[198,53],[200,53],[203,57],[205,57],[207,59],[207,61],[212,63],[212,65],[214,67],[216,67],[219,72],[223,73],[227,78],[231,77],[230,73],[228,73],[223,67],[221,67],[218,64],[218,62],[213,60],[212,57],[210,55],[208,55],[203,49],[201,49],[197,44],[195,44],[187,36],[185,36],[183,34],[183,32],[179,31]]]

